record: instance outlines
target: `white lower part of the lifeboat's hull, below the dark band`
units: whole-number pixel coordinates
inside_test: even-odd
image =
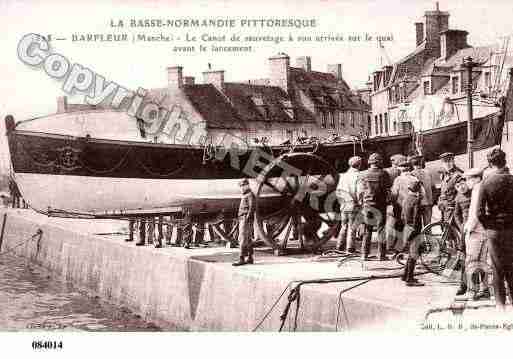
[[[233,214],[240,202],[236,179],[191,181],[17,173],[16,181],[32,208],[62,216],[173,214],[185,208],[191,214]],[[279,201],[279,196],[266,193],[263,201],[269,206]]]

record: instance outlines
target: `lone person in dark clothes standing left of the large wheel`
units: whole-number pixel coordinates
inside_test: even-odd
[[[255,195],[249,187],[247,178],[241,180],[239,185],[242,192],[238,213],[240,257],[238,262],[233,263],[234,266],[253,264],[253,243],[251,235],[255,217]]]

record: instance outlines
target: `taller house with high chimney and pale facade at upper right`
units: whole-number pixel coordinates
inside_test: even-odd
[[[449,13],[426,11],[424,22],[415,23],[416,48],[403,59],[372,74],[371,136],[387,136],[425,130],[467,119],[467,70],[471,57],[474,118],[496,111],[504,94],[507,42],[472,47],[468,32],[449,28]]]

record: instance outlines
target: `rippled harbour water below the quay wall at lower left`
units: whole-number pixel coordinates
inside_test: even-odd
[[[125,308],[77,291],[24,258],[0,254],[0,331],[41,329],[160,330]]]

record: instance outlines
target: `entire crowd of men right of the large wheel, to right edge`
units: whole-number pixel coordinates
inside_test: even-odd
[[[496,302],[503,307],[505,283],[513,292],[513,176],[506,167],[506,154],[495,148],[487,155],[486,169],[466,172],[456,166],[454,154],[444,153],[440,159],[443,171],[436,204],[444,222],[457,228],[462,269],[457,295],[471,287],[474,300],[490,298],[487,274],[492,272]],[[419,234],[431,223],[435,204],[435,185],[423,162],[422,156],[398,154],[391,157],[392,167],[384,169],[383,158],[374,153],[363,171],[363,159],[355,156],[337,186],[341,204],[337,249],[354,253],[363,227],[361,258],[369,260],[375,230],[378,260],[397,251],[408,253],[403,274],[407,286],[423,285],[414,278]]]

